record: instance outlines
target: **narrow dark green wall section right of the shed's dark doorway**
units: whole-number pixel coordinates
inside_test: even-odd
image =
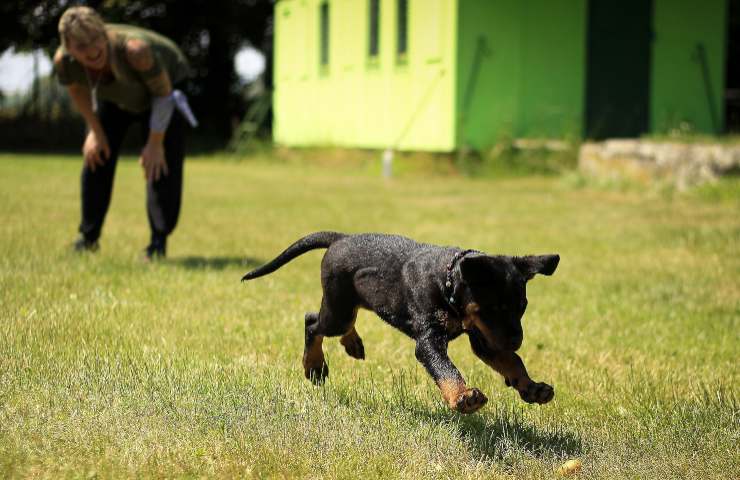
[[[651,130],[682,122],[697,132],[720,133],[724,122],[726,0],[655,0]],[[712,101],[697,55],[703,44]],[[714,111],[715,120],[712,120]]]

